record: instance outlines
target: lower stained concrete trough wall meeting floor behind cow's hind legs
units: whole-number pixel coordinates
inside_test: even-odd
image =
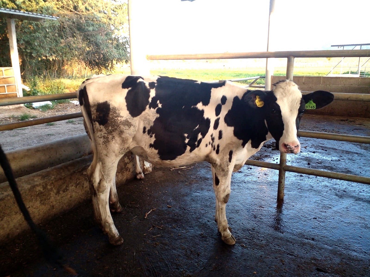
[[[41,223],[90,199],[86,169],[92,155],[17,178],[33,220]],[[116,174],[117,187],[135,176],[131,152],[122,157]],[[92,209],[92,206],[91,206]],[[0,242],[28,229],[8,182],[0,184]]]

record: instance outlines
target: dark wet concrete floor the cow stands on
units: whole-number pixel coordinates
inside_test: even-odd
[[[368,119],[306,115],[301,126],[370,136]],[[370,177],[370,145],[300,141],[288,164]],[[252,158],[278,163],[274,148],[270,141]],[[155,169],[118,188],[121,246],[95,225],[90,202],[42,227],[80,276],[370,276],[369,185],[287,172],[279,204],[277,171],[245,165],[232,176],[229,246],[214,222],[209,165],[186,168]],[[68,276],[46,263],[30,233],[0,249],[0,276]]]

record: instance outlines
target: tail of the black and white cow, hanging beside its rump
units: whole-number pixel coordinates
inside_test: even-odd
[[[77,91],[77,99],[81,106],[81,112],[85,120],[85,129],[91,141],[92,153],[93,158],[90,165],[90,169],[92,172],[94,171],[97,163],[98,163],[98,148],[94,137],[94,127],[92,126],[92,116],[91,111],[87,110],[90,109],[90,102],[87,95],[86,86],[81,85]]]

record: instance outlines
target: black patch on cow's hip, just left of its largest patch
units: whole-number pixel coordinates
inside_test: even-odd
[[[139,116],[149,104],[150,89],[145,82],[138,82],[142,79],[138,76],[127,76],[122,83],[122,89],[128,89],[125,100],[129,114],[132,117]]]

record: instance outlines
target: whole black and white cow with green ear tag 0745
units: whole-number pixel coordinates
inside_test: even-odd
[[[305,103],[312,100],[318,109],[333,100],[324,91],[302,96],[291,81],[261,91],[231,82],[124,75],[87,79],[77,96],[94,151],[87,175],[95,218],[115,245],[123,239],[109,204],[112,211],[122,209],[115,173],[127,151],[161,166],[208,161],[218,230],[225,243],[234,244],[225,212],[232,172],[271,138],[281,152],[299,153],[297,130]]]

